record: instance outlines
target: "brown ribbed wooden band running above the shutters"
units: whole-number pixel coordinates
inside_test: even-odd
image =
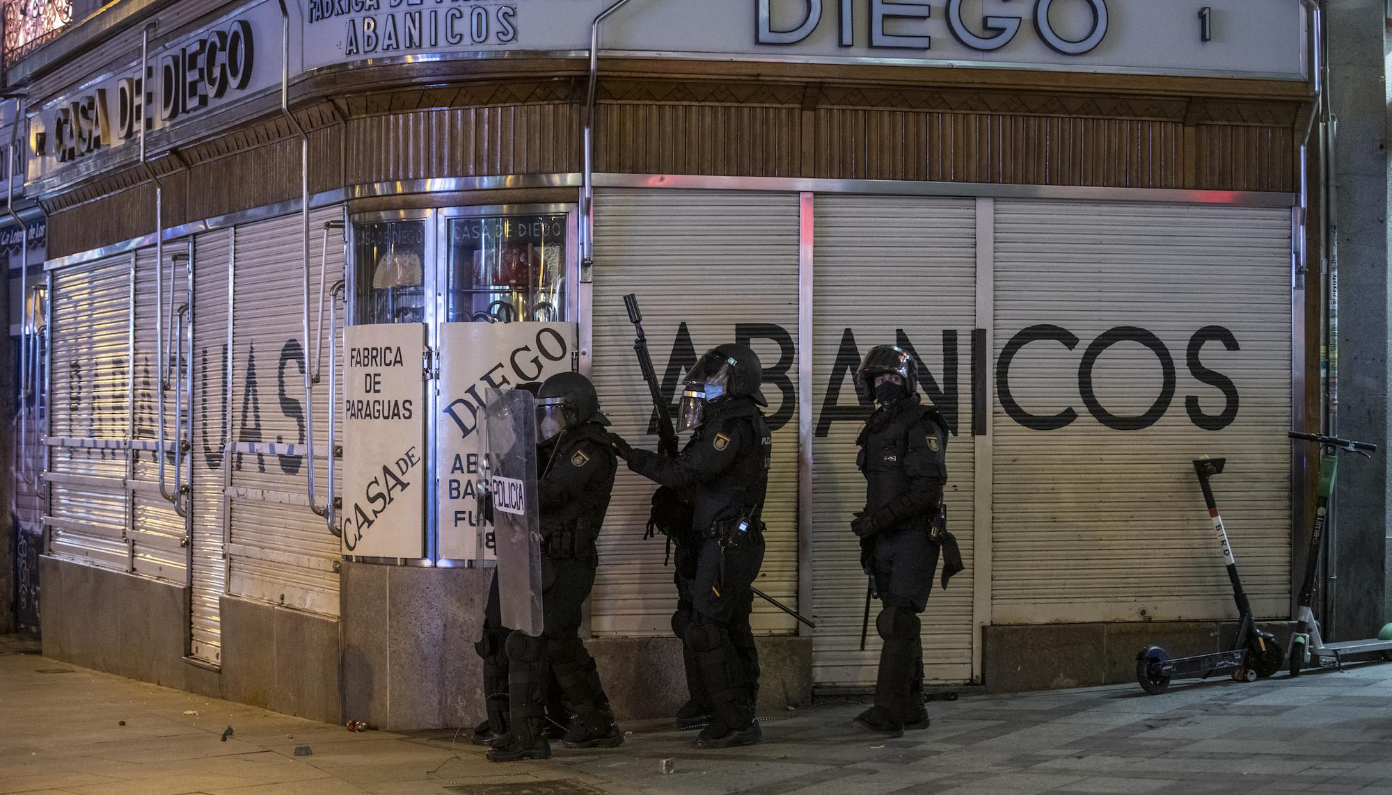
[[[539,85],[551,93],[560,90]],[[493,86],[489,96],[519,93],[504,89]],[[519,96],[535,97],[539,90],[532,86]],[[1116,100],[1107,107],[1087,103],[1073,107],[1057,99],[1034,107],[1022,100],[1027,107],[1016,108],[1001,97],[973,103],[972,97],[954,95],[919,97],[917,104],[940,106],[924,108],[895,100],[898,95],[887,95],[887,101],[894,100],[895,107],[857,107],[856,101],[876,99],[862,96],[864,92],[842,90],[830,97],[813,90],[798,95],[802,104],[788,104],[788,96],[767,90],[745,96],[707,86],[704,92],[697,97],[682,86],[665,86],[661,97],[650,101],[601,103],[596,170],[1058,186],[1295,189],[1293,131],[1283,117],[1271,124],[1261,121],[1258,111],[1264,106],[1229,108],[1228,115],[1236,121],[1217,120],[1222,108],[1205,106],[1204,120],[1196,124],[1197,117],[1189,118],[1186,125],[1182,115],[1162,118],[1179,106],[1140,100],[1130,104]],[[824,104],[832,100],[835,106]],[[941,107],[954,103],[952,110]],[[345,101],[349,108],[358,104],[362,103]],[[1089,107],[1109,113],[1063,113]],[[1150,115],[1126,118],[1118,115],[1122,111]],[[1265,113],[1274,118],[1272,114]],[[574,99],[383,111],[351,117],[345,124],[334,122],[333,114],[324,110],[308,120],[313,126],[310,190],[450,177],[574,174],[582,165],[580,118],[580,106]],[[184,168],[182,163],[192,165]],[[161,156],[153,165],[163,174],[166,227],[299,196],[299,143],[280,118],[193,143],[178,158]],[[46,204],[53,213],[50,256],[155,231],[153,189],[143,171],[134,168],[107,174]]]

